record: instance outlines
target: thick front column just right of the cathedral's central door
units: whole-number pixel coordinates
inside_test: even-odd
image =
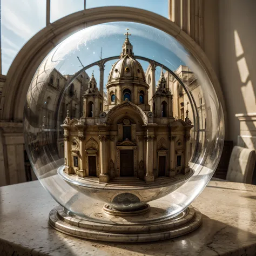
[[[146,182],[153,182],[154,181],[154,174],[153,174],[153,135],[147,135],[146,141],[147,141],[147,152],[146,152],[146,176],[145,181]]]

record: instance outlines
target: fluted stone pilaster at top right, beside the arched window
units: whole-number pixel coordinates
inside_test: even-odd
[[[204,48],[203,0],[169,0],[169,19]]]

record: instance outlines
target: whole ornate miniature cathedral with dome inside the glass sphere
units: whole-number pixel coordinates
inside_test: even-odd
[[[92,74],[83,95],[83,116],[70,120],[67,114],[62,125],[64,172],[84,182],[85,177],[103,183],[136,177],[149,183],[190,171],[191,121],[188,116],[185,121],[173,118],[173,95],[163,69],[151,109],[150,86],[134,58],[129,33],[125,35],[122,53],[106,84],[107,104],[103,106]]]

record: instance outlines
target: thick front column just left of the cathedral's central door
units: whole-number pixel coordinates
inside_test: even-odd
[[[106,136],[99,135],[99,150],[100,150],[100,174],[99,182],[109,181],[109,175],[107,174],[107,164],[106,164]]]

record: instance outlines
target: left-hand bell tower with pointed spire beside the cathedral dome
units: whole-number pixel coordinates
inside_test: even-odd
[[[103,111],[103,96],[97,88],[97,82],[93,75],[88,82],[88,88],[83,95],[83,116],[84,117],[99,117],[99,113]]]

